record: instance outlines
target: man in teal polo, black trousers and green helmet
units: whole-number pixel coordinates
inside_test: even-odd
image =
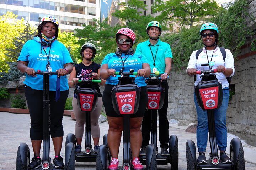
[[[157,21],[148,23],[146,32],[149,35],[148,41],[138,44],[136,53],[142,53],[148,59],[151,72],[159,71],[161,75],[161,86],[165,89],[164,106],[158,111],[159,115],[159,141],[161,155],[169,155],[169,121],[167,118],[168,108],[168,74],[171,71],[172,52],[170,45],[160,41],[159,36],[162,32],[162,26]],[[146,146],[149,144],[151,131],[151,114],[146,110],[142,120],[142,149],[140,155],[146,154]]]

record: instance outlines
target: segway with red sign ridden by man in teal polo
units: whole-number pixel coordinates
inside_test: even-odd
[[[169,155],[162,156],[158,153],[157,110],[162,108],[165,98],[165,90],[160,86],[160,76],[159,72],[156,72],[147,78],[149,97],[147,109],[151,112],[151,144],[146,146],[146,155],[140,155],[140,160],[143,165],[146,165],[146,170],[155,170],[156,165],[168,165],[168,163],[171,165],[171,170],[177,170],[178,138],[176,135],[171,135],[169,138]]]

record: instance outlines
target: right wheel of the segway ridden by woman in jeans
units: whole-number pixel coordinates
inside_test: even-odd
[[[238,154],[238,157],[237,157],[238,159],[235,163],[234,157],[237,154]],[[230,158],[231,158],[232,162],[235,163],[235,170],[245,170],[244,149],[242,147],[241,141],[239,144],[239,153],[235,153],[235,148],[232,145],[232,142],[230,142]]]

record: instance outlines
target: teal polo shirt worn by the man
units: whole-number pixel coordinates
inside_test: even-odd
[[[151,48],[151,50],[150,50]],[[153,56],[152,56],[152,53]],[[156,68],[160,74],[165,71],[165,58],[172,58],[171,47],[166,42],[162,42],[158,39],[158,42],[155,45],[150,44],[149,40],[145,42],[141,42],[137,45],[136,54],[143,54],[148,60],[151,68],[151,72],[153,73],[153,68]],[[154,59],[155,58],[155,66]]]

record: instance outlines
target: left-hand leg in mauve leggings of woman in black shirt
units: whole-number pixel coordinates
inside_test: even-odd
[[[77,99],[73,96],[72,99],[72,106],[73,106],[73,111],[75,114],[75,137],[76,137],[76,145],[82,145],[82,137],[84,134],[84,124],[85,124],[85,113],[80,111],[78,108],[77,104]],[[80,147],[79,146],[79,147]],[[76,149],[77,150],[77,149]],[[79,151],[76,152],[81,152],[81,148],[79,148]]]

